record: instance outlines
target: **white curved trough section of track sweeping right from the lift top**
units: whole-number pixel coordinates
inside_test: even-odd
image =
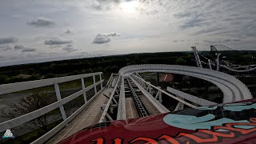
[[[126,66],[119,70],[119,74],[124,77],[136,72],[166,72],[204,79],[214,83],[222,90],[223,102],[235,102],[252,98],[250,90],[241,81],[229,74],[215,70],[177,65],[134,65]]]

